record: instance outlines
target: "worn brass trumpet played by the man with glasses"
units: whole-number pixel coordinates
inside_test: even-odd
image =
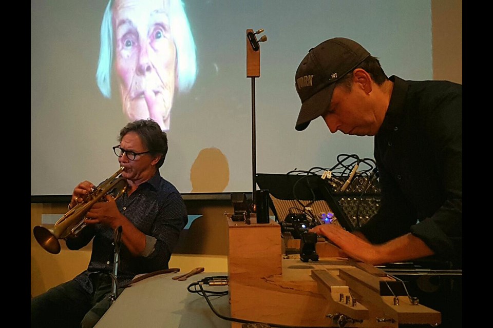
[[[73,238],[80,234],[87,225],[84,222],[86,213],[89,212],[94,203],[106,201],[106,195],[110,195],[115,200],[123,195],[127,190],[128,183],[127,180],[121,176],[119,177],[119,175],[124,169],[124,167],[121,167],[115,174],[101,182],[98,187],[94,187],[83,199],[83,202],[78,203],[65,213],[64,216],[56,221],[52,229],[43,226],[34,227],[34,238],[36,238],[41,247],[52,254],[60,253],[59,239]]]

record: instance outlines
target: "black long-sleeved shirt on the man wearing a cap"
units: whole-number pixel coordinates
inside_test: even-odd
[[[462,267],[462,85],[390,79],[374,149],[382,204],[360,230],[373,243],[410,232]]]

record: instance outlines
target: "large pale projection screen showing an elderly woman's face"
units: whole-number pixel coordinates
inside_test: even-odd
[[[139,115],[166,116],[160,124],[169,151],[161,175],[181,193],[252,191],[253,100],[258,173],[331,167],[342,153],[373,157],[371,137],[330,134],[322,119],[294,129],[296,68],[328,38],[361,43],[389,76],[432,78],[429,0],[139,4],[113,31],[113,3],[31,1],[31,196],[69,195],[80,181],[99,183],[116,172],[111,147]],[[156,4],[164,9],[156,11]],[[105,19],[109,32],[102,31]],[[247,29],[267,36],[253,83],[246,74]],[[135,91],[140,85],[124,66],[142,56],[132,53],[140,43],[151,44],[145,55],[158,71],[151,93]],[[153,114],[144,106],[150,103]]]

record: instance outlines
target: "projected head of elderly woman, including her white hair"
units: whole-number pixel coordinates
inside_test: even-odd
[[[181,0],[110,0],[96,73],[107,98],[112,68],[128,120],[152,118],[169,130],[175,92],[189,90],[197,73],[195,43]]]

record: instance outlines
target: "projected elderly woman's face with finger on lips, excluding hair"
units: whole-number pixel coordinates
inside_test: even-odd
[[[176,83],[176,47],[166,0],[118,0],[113,6],[115,68],[123,112],[169,130]]]

